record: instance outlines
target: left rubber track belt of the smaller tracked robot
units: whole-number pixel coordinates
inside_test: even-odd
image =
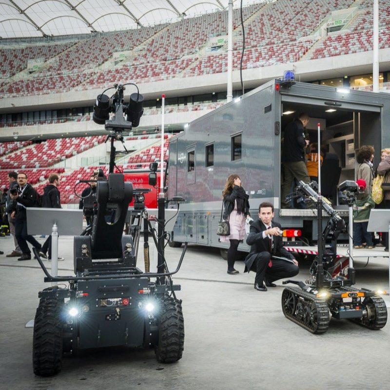
[[[284,291],[285,290],[294,293],[296,296],[300,296],[304,298],[305,302],[309,301],[315,303],[315,306],[317,308],[317,313],[318,313],[317,326],[314,328],[314,326],[312,325],[305,324],[303,321],[297,318],[296,315],[290,315],[289,313],[286,313],[284,310],[283,294],[282,294],[282,309],[284,315],[292,322],[295,322],[302,328],[305,328],[307,331],[316,334],[325,333],[329,328],[329,322],[331,320],[328,304],[323,299],[315,298],[312,294],[302,291],[299,287],[286,287]]]

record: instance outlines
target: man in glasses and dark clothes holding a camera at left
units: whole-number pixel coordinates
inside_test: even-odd
[[[37,193],[31,184],[27,183],[26,173],[20,172],[18,174],[18,184],[18,189],[13,188],[9,192],[11,199],[14,200],[11,217],[15,218],[15,235],[22,252],[18,260],[22,261],[31,259],[31,251],[27,245],[27,241],[39,251],[42,246],[32,235],[27,234],[26,209],[27,207],[36,206]]]

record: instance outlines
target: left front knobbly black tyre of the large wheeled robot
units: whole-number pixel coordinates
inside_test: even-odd
[[[44,298],[35,314],[33,336],[33,368],[36,375],[59,373],[62,366],[62,301]]]

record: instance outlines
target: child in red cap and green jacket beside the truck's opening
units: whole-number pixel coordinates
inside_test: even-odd
[[[366,180],[356,180],[359,186],[359,192],[356,197],[356,202],[352,206],[353,210],[353,248],[364,248],[363,242],[366,242],[366,248],[372,249],[372,234],[367,232],[369,224],[370,210],[375,206],[371,195],[366,193]],[[363,241],[364,240],[364,241]]]

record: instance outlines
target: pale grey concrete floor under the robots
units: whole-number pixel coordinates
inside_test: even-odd
[[[0,249],[10,253],[12,238],[0,238]],[[60,275],[72,274],[72,254],[73,239],[60,237]],[[167,247],[171,270],[180,254]],[[364,265],[364,259],[355,263]],[[300,266],[297,279],[305,280],[310,264]],[[388,259],[370,260],[357,271],[356,286],[388,288],[388,267]],[[236,268],[239,275],[228,275],[218,251],[187,250],[174,278],[185,321],[177,363],[162,365],[150,350],[90,350],[64,358],[57,376],[41,378],[32,370],[33,329],[25,324],[35,316],[38,291],[48,285],[36,260],[0,255],[0,389],[389,389],[390,324],[370,331],[331,320],[325,334],[314,335],[284,317],[280,281],[257,292],[254,273],[243,274],[243,262]]]

